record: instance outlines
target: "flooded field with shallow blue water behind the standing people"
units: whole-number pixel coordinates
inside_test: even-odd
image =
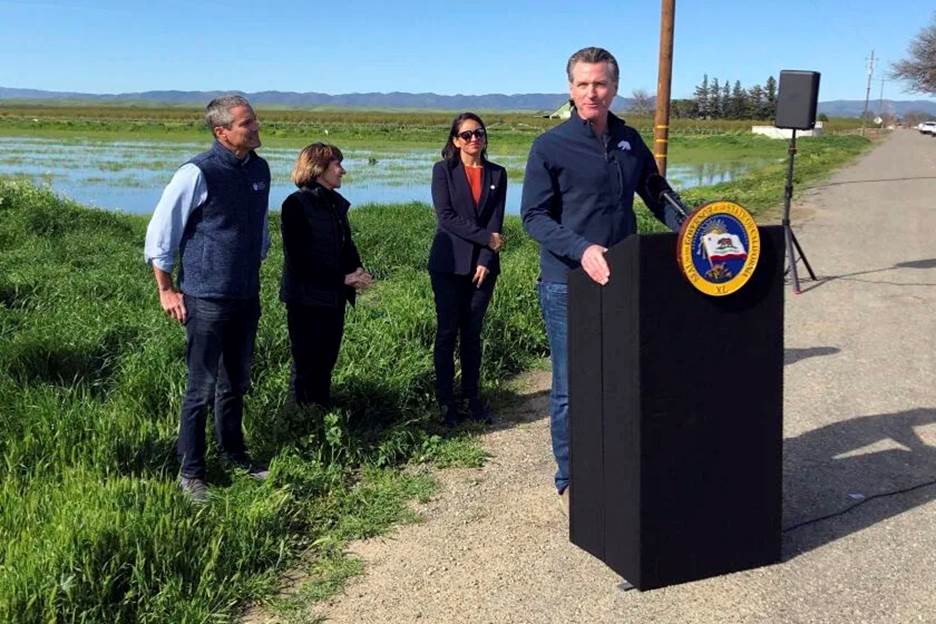
[[[136,214],[149,214],[163,187],[179,165],[205,150],[207,143],[157,141],[61,141],[29,137],[0,137],[0,175],[29,179],[75,201]],[[343,150],[345,176],[341,193],[352,205],[365,203],[431,203],[432,164],[438,151],[430,149]],[[270,207],[277,209],[295,187],[289,180],[298,150],[263,147],[270,163],[273,186]],[[667,178],[677,189],[730,181],[760,167],[766,158],[715,159],[702,163],[671,162]],[[525,156],[490,157],[510,173],[507,211],[520,212]]]

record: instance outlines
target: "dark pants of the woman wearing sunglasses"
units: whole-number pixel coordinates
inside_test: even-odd
[[[495,275],[488,275],[481,288],[471,275],[430,272],[436,304],[436,339],[433,352],[436,372],[436,399],[455,400],[455,340],[459,339],[462,366],[462,395],[477,399],[481,379],[481,328]]]

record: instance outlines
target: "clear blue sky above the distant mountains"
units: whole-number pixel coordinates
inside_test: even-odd
[[[744,87],[781,69],[822,72],[820,100],[863,99],[934,15],[922,0],[677,0],[673,97],[703,74]],[[0,86],[562,92],[565,61],[611,50],[621,95],[656,91],[658,0],[0,0]],[[875,80],[871,97],[880,96]],[[888,81],[888,99],[934,99]]]

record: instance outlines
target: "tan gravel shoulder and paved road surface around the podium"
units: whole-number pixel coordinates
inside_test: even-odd
[[[896,131],[794,200],[818,282],[786,291],[784,526],[936,479],[936,140]],[[803,271],[805,273],[805,271]],[[571,545],[548,373],[437,472],[424,521],[351,546],[330,622],[936,622],[936,486],[790,531],[780,564],[649,592]]]

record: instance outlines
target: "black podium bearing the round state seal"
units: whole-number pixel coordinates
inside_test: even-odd
[[[676,236],[631,236],[600,287],[569,277],[573,544],[638,589],[780,559],[783,229],[738,292],[682,276]]]

